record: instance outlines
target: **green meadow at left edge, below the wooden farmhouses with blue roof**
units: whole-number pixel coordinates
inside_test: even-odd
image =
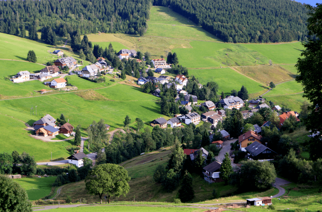
[[[25,151],[31,156],[34,156],[37,162],[50,161],[51,152],[52,159],[61,157],[67,158],[68,156],[70,156],[70,154],[66,150],[66,148],[71,147],[71,144],[68,141],[44,142],[42,140],[34,139],[29,136],[31,133],[33,133],[33,131],[29,132],[25,130],[26,126],[22,121],[12,118],[11,116],[6,116],[6,113],[3,114],[2,109],[3,107],[1,106],[0,128],[2,135],[5,136],[1,136],[0,138],[0,153],[7,152],[11,154],[14,150],[16,150],[19,154],[21,154]],[[13,111],[11,111],[11,113],[14,114]],[[31,119],[35,119],[34,116],[31,117],[27,113],[24,113],[22,115],[24,117],[28,116],[28,118],[30,117]],[[59,116],[54,117],[56,118]]]

